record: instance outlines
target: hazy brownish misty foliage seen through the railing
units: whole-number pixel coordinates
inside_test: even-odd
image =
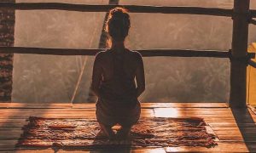
[[[58,2],[108,4],[107,0],[16,0],[16,3]],[[200,6],[233,8],[233,0],[120,0],[119,4]],[[251,1],[256,9],[256,2]],[[16,10],[15,46],[38,48],[98,48],[106,13],[61,10]],[[256,26],[250,26],[249,41],[256,42]],[[189,14],[131,13],[130,49],[231,48],[232,20]],[[72,101],[86,103],[93,56],[15,54],[13,102]],[[143,58],[146,91],[142,102],[227,102],[230,94],[230,60],[214,58]],[[82,67],[85,63],[84,71]]]

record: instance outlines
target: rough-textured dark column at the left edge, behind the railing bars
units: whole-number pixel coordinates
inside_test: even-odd
[[[15,3],[2,0],[1,3]],[[12,47],[15,43],[15,9],[0,9],[0,46]],[[14,54],[0,54],[0,102],[11,101]]]

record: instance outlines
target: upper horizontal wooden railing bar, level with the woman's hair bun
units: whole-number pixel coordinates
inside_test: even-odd
[[[0,8],[15,8],[20,10],[58,9],[79,12],[108,12],[109,9],[122,6],[131,13],[161,13],[161,14],[205,14],[215,16],[232,16],[231,9],[200,8],[200,7],[163,7],[137,5],[87,5],[71,3],[1,3]]]

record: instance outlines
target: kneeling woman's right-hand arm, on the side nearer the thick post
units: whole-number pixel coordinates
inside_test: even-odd
[[[143,94],[145,90],[145,75],[144,75],[144,65],[143,65],[143,57],[141,54],[138,54],[138,66],[135,74],[136,82],[137,82],[137,97]]]

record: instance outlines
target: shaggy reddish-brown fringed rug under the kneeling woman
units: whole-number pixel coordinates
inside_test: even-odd
[[[214,147],[215,135],[207,133],[202,118],[141,118],[131,129],[131,138],[109,140],[102,136],[96,119],[61,119],[31,116],[23,127],[17,147],[105,148],[105,147]],[[117,132],[119,126],[114,126]]]

